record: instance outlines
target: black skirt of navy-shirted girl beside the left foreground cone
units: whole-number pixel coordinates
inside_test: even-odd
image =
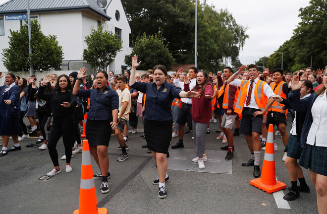
[[[89,146],[109,146],[111,126],[109,120],[87,120],[85,125],[86,140]]]

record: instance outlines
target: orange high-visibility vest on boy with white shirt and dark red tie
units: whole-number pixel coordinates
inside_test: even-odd
[[[237,98],[236,106],[235,106],[235,112],[238,114],[242,113],[243,106],[245,103],[248,87],[249,87],[249,80],[242,80],[241,87],[239,90],[239,96]],[[268,97],[264,94],[264,85],[267,84],[267,82],[258,80],[256,83],[256,86],[254,87],[254,98],[256,100],[256,103],[261,111],[263,111],[267,105]],[[265,113],[267,114],[267,113]],[[265,115],[264,114],[264,115]]]

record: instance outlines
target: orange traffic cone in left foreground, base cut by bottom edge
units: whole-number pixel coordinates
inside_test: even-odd
[[[98,209],[88,140],[83,141],[79,207],[74,214],[108,214],[106,208]]]

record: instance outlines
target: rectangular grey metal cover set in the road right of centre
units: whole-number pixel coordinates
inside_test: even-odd
[[[206,166],[204,169],[199,169],[198,163],[192,162],[195,157],[194,149],[170,149],[169,155],[170,157],[167,158],[168,169],[219,174],[232,173],[232,160],[225,160],[225,151],[206,150],[208,160],[204,162]]]

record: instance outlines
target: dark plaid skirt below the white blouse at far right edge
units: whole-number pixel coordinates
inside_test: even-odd
[[[299,165],[313,172],[327,176],[327,147],[306,144]]]

